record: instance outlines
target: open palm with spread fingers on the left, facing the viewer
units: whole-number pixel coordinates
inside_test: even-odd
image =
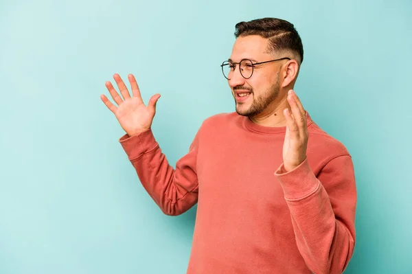
[[[128,75],[128,80],[132,87],[133,97],[130,97],[130,93],[119,74],[116,73],[113,78],[123,98],[117,93],[111,82],[107,81],[106,87],[117,106],[108,100],[105,95],[101,95],[100,98],[104,104],[115,114],[120,126],[129,136],[148,130],[152,126],[153,117],[156,113],[156,103],[160,98],[160,94],[153,95],[148,106],[146,106],[141,99],[139,86],[132,74]]]

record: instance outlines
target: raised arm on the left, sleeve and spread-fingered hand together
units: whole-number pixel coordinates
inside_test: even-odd
[[[198,135],[190,146],[190,152],[176,163],[176,170],[174,170],[161,152],[150,129],[160,94],[153,95],[146,106],[133,74],[128,75],[133,96],[130,96],[119,74],[115,73],[113,78],[122,96],[115,90],[113,84],[107,81],[106,88],[115,104],[108,100],[106,95],[102,94],[100,98],[126,131],[126,135],[119,140],[120,144],[135,167],[141,183],[161,210],[168,215],[182,214],[198,199],[196,176]]]

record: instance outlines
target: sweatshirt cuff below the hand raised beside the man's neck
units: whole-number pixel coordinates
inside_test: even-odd
[[[286,200],[301,200],[318,190],[320,182],[310,169],[306,158],[295,169],[286,172],[284,164],[275,171]]]

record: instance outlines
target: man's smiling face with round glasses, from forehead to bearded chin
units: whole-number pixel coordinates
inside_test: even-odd
[[[231,52],[233,62],[247,58],[255,62],[275,59],[273,54],[266,53],[268,39],[257,35],[238,37]],[[245,79],[236,64],[231,72],[229,86],[235,99],[236,112],[239,115],[253,117],[268,109],[279,94],[279,63],[268,62],[256,65],[251,78]],[[248,93],[243,96],[242,93]]]

